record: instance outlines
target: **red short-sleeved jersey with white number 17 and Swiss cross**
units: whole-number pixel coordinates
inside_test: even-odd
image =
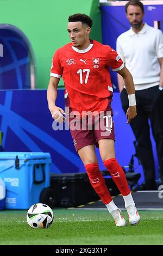
[[[51,76],[63,77],[66,106],[73,111],[105,111],[112,95],[109,68],[118,71],[124,64],[108,45],[91,40],[85,50],[72,43],[59,48],[52,61]]]

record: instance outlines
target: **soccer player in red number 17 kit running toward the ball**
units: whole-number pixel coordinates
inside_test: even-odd
[[[92,20],[85,14],[73,14],[68,17],[67,31],[71,42],[54,53],[47,90],[48,106],[52,117],[59,123],[64,122],[64,115],[67,115],[76,151],[84,163],[91,185],[108,208],[116,226],[124,226],[127,222],[105,185],[98,167],[95,145],[99,147],[104,166],[109,170],[124,198],[129,223],[137,224],[140,216],[135,208],[126,176],[115,157],[111,109],[113,89],[109,68],[117,71],[126,84],[129,98],[127,123],[136,116],[133,78],[116,51],[108,45],[90,40],[91,26]],[[68,113],[55,105],[61,76],[65,84]]]

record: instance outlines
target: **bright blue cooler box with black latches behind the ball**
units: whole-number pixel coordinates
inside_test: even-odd
[[[29,209],[50,185],[49,153],[2,152],[0,177],[6,187],[6,209]]]

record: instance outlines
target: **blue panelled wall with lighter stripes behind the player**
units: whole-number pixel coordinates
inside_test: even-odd
[[[64,89],[58,91],[57,105],[64,109]],[[127,166],[131,155],[135,154],[134,135],[130,126],[126,124],[119,93],[114,94],[112,108],[116,157],[122,166]],[[57,129],[53,121],[48,111],[46,90],[0,90],[0,131],[3,131],[4,151],[48,152],[52,157],[51,172],[58,174],[85,172],[84,164],[74,149],[70,131],[67,129],[68,125],[63,125],[67,130],[62,130],[62,125]],[[104,170],[99,150],[97,149],[96,152],[99,168]],[[155,147],[154,156],[156,156]],[[135,171],[142,175],[139,180],[141,183],[144,180],[142,167],[139,166],[136,158],[134,162]],[[158,170],[158,162],[156,164]]]

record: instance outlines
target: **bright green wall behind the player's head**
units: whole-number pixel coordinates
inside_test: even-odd
[[[67,34],[69,15],[79,12],[90,15],[93,19],[91,37],[102,41],[98,2],[98,0],[0,1],[0,24],[10,24],[20,29],[33,48],[37,70],[35,88],[47,88],[53,54],[57,48],[70,41]],[[59,86],[63,84],[61,80]]]

